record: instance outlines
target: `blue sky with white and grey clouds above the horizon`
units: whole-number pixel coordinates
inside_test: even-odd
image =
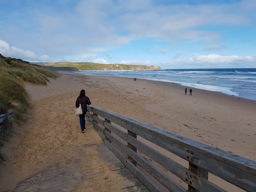
[[[0,0],[0,53],[30,62],[256,68],[255,0]]]

